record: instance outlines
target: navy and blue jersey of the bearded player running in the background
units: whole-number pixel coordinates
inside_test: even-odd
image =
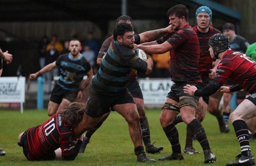
[[[56,65],[60,68],[60,79],[57,84],[67,90],[79,89],[84,75],[91,70],[90,63],[83,56],[72,59],[70,53],[58,57]]]

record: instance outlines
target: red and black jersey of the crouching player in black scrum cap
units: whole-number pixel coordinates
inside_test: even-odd
[[[256,63],[251,57],[229,49],[218,65],[214,80],[225,84],[230,79],[246,89],[249,93],[256,90]]]

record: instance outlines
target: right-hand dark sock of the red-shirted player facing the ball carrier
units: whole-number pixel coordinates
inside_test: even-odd
[[[193,135],[195,135],[204,151],[211,149],[204,131],[204,127],[198,120],[194,119],[191,121],[191,123],[188,124],[188,127],[192,130]]]

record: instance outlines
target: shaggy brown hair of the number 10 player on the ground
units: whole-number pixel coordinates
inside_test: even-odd
[[[84,103],[72,102],[61,111],[61,119],[75,128],[82,121],[85,108]]]

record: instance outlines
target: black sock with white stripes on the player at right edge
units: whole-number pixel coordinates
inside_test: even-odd
[[[251,157],[252,153],[249,144],[249,133],[247,124],[243,120],[236,120],[232,124],[236,132],[237,140],[241,147],[241,153],[244,156]]]

